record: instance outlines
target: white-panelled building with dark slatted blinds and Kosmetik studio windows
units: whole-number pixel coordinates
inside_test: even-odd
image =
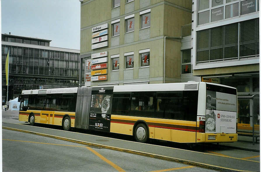
[[[238,128],[259,130],[259,0],[192,4],[193,75],[236,87]]]

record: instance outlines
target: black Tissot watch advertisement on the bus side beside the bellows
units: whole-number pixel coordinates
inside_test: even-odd
[[[110,131],[113,87],[93,87],[89,129]]]

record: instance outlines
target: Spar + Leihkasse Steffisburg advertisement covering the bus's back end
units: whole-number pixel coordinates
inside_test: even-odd
[[[236,95],[207,90],[206,133],[236,133]]]

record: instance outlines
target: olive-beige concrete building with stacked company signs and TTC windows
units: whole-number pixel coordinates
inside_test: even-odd
[[[180,82],[181,26],[191,18],[191,0],[81,1],[85,85]]]

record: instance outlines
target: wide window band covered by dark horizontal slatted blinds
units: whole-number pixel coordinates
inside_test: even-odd
[[[200,30],[196,47],[196,63],[259,57],[259,18]]]

